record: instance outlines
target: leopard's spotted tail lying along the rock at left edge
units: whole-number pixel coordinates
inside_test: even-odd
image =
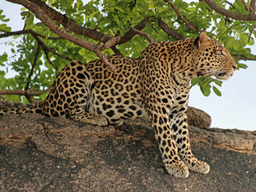
[[[42,113],[43,112],[42,104],[43,104],[43,102],[39,102],[34,105],[2,108],[2,109],[0,109],[0,116],[7,115],[7,114]]]

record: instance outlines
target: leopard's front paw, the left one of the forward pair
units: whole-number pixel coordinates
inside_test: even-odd
[[[188,168],[187,166],[184,165],[183,162],[172,165],[166,164],[165,168],[168,171],[168,174],[175,176],[177,178],[187,178],[187,176],[189,175]]]

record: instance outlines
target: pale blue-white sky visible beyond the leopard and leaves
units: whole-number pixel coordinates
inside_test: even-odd
[[[12,30],[22,30],[24,21],[21,21],[21,6],[1,1],[1,9],[3,14],[11,19],[9,25]],[[12,41],[12,38],[0,39],[0,54],[4,52],[11,54],[12,47],[5,44],[9,41]],[[256,54],[256,46],[251,49],[252,54]],[[248,68],[236,71],[233,77],[223,82],[222,87],[218,87],[222,96],[216,96],[213,92],[210,96],[203,96],[199,87],[192,87],[190,91],[188,105],[211,115],[211,127],[256,130],[256,61],[240,61],[240,63],[247,64]],[[7,77],[14,75],[12,71],[7,73]]]

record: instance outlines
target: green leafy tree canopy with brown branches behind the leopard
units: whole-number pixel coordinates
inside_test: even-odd
[[[28,90],[39,91],[50,87],[56,74],[69,60],[77,59],[86,63],[97,59],[101,53],[103,57],[105,54],[139,56],[149,40],[145,38],[145,34],[138,35],[135,30],[145,32],[155,41],[195,38],[200,31],[206,31],[211,38],[224,44],[238,62],[240,59],[256,60],[249,49],[250,45],[254,45],[256,35],[255,0],[235,0],[233,3],[225,0],[9,2],[24,6],[21,9],[24,29],[20,31],[12,31],[9,19],[0,10],[0,38],[11,35],[19,38],[18,44],[7,43],[13,46],[12,55],[0,55],[0,66],[6,68],[0,71],[0,95],[5,91],[6,98],[12,101],[33,101]],[[212,7],[212,3],[217,8]],[[221,9],[224,11],[220,12]],[[78,40],[85,40],[92,45],[92,49],[84,49],[80,44],[74,44],[72,40],[66,40],[64,36],[50,30],[45,21],[36,19],[36,16],[41,18],[39,14],[42,12],[45,14],[43,16],[54,21],[53,25],[59,27],[58,29],[65,30]],[[119,39],[115,40],[113,37]],[[111,43],[111,46],[107,47],[106,42]],[[102,48],[96,51],[99,44]],[[6,78],[9,68],[19,75]],[[239,63],[239,68],[246,68],[246,65]],[[221,81],[216,78],[193,79],[192,86],[194,85],[199,85],[205,96],[211,90],[216,95],[221,95],[217,89],[217,86],[221,86]],[[8,92],[11,90],[20,90],[21,94]],[[13,93],[17,95],[11,95]],[[45,96],[46,93],[37,98],[43,100]]]

